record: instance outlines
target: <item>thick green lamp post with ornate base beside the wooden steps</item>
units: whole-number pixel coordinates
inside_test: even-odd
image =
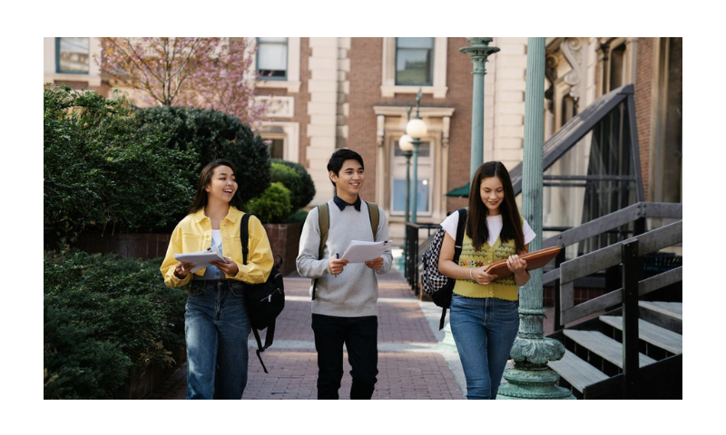
[[[544,152],[544,38],[527,42],[525,91],[525,156],[522,173],[522,212],[537,237],[530,252],[542,248],[542,180]],[[510,356],[514,368],[505,371],[507,383],[497,399],[574,399],[569,390],[557,386],[559,375],[547,366],[564,356],[564,345],[544,338],[542,269],[530,272],[520,288],[519,334]]]

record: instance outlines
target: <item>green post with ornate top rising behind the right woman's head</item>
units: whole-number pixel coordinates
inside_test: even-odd
[[[499,51],[498,47],[490,47],[492,38],[466,38],[471,46],[460,48],[468,54],[473,64],[474,96],[472,98],[471,120],[471,164],[469,179],[474,177],[476,169],[484,163],[484,76],[487,58]]]

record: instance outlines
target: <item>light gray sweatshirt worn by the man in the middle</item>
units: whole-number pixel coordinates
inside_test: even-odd
[[[383,267],[377,271],[364,263],[348,263],[338,276],[332,275],[328,266],[330,257],[342,256],[351,240],[372,242],[370,217],[365,202],[360,211],[352,206],[340,208],[328,201],[330,229],[322,259],[318,259],[320,246],[320,226],[318,208],[313,208],[305,220],[300,237],[297,259],[298,273],[309,278],[319,278],[312,301],[313,314],[338,317],[362,317],[378,315],[378,278],[391,268],[393,257],[390,247],[383,255]],[[383,209],[378,208],[378,236],[375,241],[388,240],[388,223]],[[312,285],[310,285],[312,295]]]

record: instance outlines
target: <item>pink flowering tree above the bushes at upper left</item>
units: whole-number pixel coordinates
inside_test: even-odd
[[[224,111],[248,125],[265,115],[248,72],[247,38],[100,38],[102,73],[147,102]]]

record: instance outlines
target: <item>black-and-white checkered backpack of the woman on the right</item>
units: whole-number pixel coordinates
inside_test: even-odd
[[[456,240],[454,245],[454,263],[458,264],[459,256],[461,256],[461,245],[464,240],[464,230],[466,229],[467,208],[459,209],[459,225],[456,228]],[[431,241],[431,247],[424,253],[421,263],[424,270],[421,273],[421,286],[424,293],[431,296],[434,304],[443,308],[441,313],[441,321],[438,329],[444,329],[444,320],[446,319],[446,308],[451,307],[451,297],[454,295],[454,285],[456,279],[441,275],[438,271],[438,257],[441,255],[441,245],[444,243],[446,231],[444,228],[438,228],[437,233]]]

